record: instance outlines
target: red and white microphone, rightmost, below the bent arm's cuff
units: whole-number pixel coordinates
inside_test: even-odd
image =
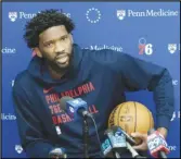
[[[148,131],[147,147],[154,158],[167,158],[166,154],[169,152],[165,137],[154,129]]]

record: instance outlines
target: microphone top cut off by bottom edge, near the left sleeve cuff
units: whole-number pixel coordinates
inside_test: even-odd
[[[56,158],[67,158],[67,155],[64,152],[64,148],[54,148],[49,152],[49,158],[56,159]]]

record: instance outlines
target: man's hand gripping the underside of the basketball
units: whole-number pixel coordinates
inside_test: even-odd
[[[131,133],[132,137],[140,138],[142,143],[140,145],[132,146],[135,150],[147,150],[147,134],[141,134],[139,132]]]

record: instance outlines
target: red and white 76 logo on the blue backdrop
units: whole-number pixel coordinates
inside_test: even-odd
[[[152,56],[153,45],[147,44],[144,37],[139,39],[139,54]]]

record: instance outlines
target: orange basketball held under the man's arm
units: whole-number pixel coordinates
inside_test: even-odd
[[[142,103],[127,101],[118,105],[109,114],[108,127],[120,126],[129,135],[134,132],[147,134],[154,127],[152,112]],[[140,144],[139,138],[134,138]]]

